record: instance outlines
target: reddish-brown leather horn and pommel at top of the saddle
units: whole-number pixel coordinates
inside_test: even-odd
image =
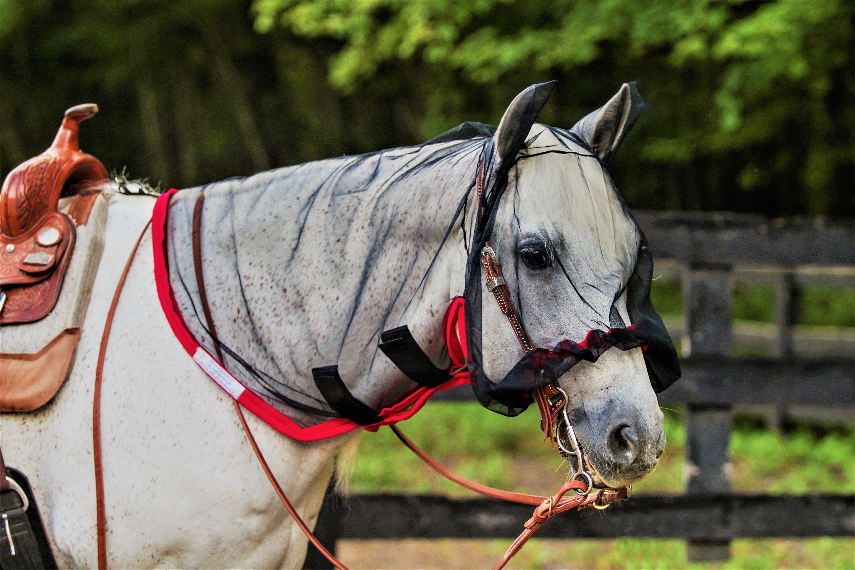
[[[77,138],[80,121],[97,112],[95,103],[68,109],[50,148],[9,173],[0,189],[3,234],[14,238],[27,232],[44,214],[56,211],[64,190],[74,194],[81,183],[108,177],[101,161],[80,150]]]

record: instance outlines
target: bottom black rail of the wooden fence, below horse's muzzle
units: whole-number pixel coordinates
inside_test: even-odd
[[[496,499],[360,495],[324,506],[324,538],[516,538],[532,507]],[[604,511],[569,511],[538,538],[845,537],[855,531],[855,496],[678,495],[634,497]]]

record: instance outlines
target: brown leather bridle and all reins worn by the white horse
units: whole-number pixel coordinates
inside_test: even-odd
[[[479,167],[478,177],[476,181],[479,205],[481,203],[481,192],[483,190],[483,184],[484,167],[483,164],[481,164]],[[204,276],[202,270],[201,220],[203,203],[204,195],[200,195],[193,208],[193,265],[196,272],[196,280],[203,314],[208,325],[208,330],[211,336],[215,339],[215,351],[217,359],[222,364],[223,358],[220,346],[216,342],[216,328],[214,320],[211,317],[208,297],[204,286]],[[128,256],[125,267],[121,273],[119,282],[116,285],[115,293],[113,295],[113,301],[112,303],[110,303],[107,320],[104,324],[101,345],[98,350],[97,368],[95,375],[95,390],[92,406],[92,440],[95,462],[97,558],[98,568],[102,570],[107,568],[106,514],[104,508],[103,469],[101,461],[102,452],[100,417],[103,363],[106,357],[107,344],[109,341],[109,332],[110,328],[112,327],[113,318],[115,316],[116,306],[119,303],[121,290],[125,285],[127,273],[129,272],[131,264],[133,263],[133,258],[134,256],[136,256],[137,250],[139,249],[139,244],[142,241],[144,234],[148,230],[149,226],[150,221],[145,225],[145,227],[143,228],[143,232],[140,233],[136,244],[134,244],[133,250],[131,250],[131,254],[130,256]],[[516,339],[522,347],[523,352],[525,354],[528,354],[534,351],[534,344],[532,343],[531,338],[528,336],[528,332],[526,332],[525,327],[522,325],[522,320],[520,319],[520,316],[511,301],[510,291],[508,290],[508,285],[505,283],[504,276],[502,274],[502,266],[498,262],[498,257],[496,256],[495,251],[492,250],[492,248],[490,247],[489,243],[487,243],[485,247],[481,250],[481,267],[484,270],[487,291],[492,292],[493,297],[495,297],[496,302],[498,303],[499,309],[501,309],[502,313],[507,317],[511,328],[513,329],[516,335]],[[565,483],[558,489],[555,495],[551,497],[540,497],[537,495],[526,495],[523,493],[502,491],[500,489],[494,489],[486,485],[481,485],[480,483],[475,483],[475,481],[470,481],[469,479],[464,479],[463,477],[460,477],[456,473],[452,473],[451,471],[440,465],[438,461],[434,460],[430,455],[421,450],[418,446],[416,446],[416,444],[413,444],[413,442],[410,441],[410,438],[407,438],[404,433],[400,431],[398,426],[390,426],[392,428],[392,432],[395,432],[395,435],[398,436],[398,439],[400,439],[401,442],[407,448],[413,451],[413,453],[415,453],[420,459],[422,459],[422,461],[427,463],[429,467],[433,468],[434,471],[436,471],[446,479],[449,479],[452,482],[457,483],[457,485],[461,485],[466,489],[469,489],[470,491],[475,491],[476,493],[480,493],[481,495],[484,495],[486,497],[493,497],[497,499],[502,499],[504,501],[519,502],[522,504],[536,506],[536,508],[534,509],[534,514],[524,524],[524,529],[520,536],[516,538],[516,540],[510,545],[510,548],[507,550],[507,552],[505,552],[502,559],[496,563],[496,566],[493,567],[493,570],[500,570],[501,568],[503,568],[504,565],[507,564],[507,562],[510,561],[510,559],[514,555],[516,555],[516,553],[519,552],[520,549],[522,549],[523,544],[528,541],[528,538],[531,538],[534,532],[537,531],[537,529],[540,528],[540,526],[546,520],[551,519],[551,517],[555,516],[556,514],[563,513],[573,508],[577,508],[580,510],[583,508],[607,508],[612,502],[627,498],[630,492],[630,487],[622,487],[621,489],[599,490],[595,490],[593,488],[592,477],[589,473],[587,473],[585,469],[585,455],[582,452],[581,446],[578,442],[578,439],[576,438],[573,426],[569,421],[569,417],[566,411],[566,405],[568,402],[567,394],[562,390],[560,386],[557,385],[557,382],[554,382],[550,385],[546,385],[545,387],[539,388],[538,390],[534,391],[533,397],[534,401],[538,405],[538,408],[540,409],[540,427],[544,432],[544,441],[548,438],[551,441],[551,444],[553,445],[553,449],[554,444],[557,443],[558,449],[560,453],[564,456],[564,458],[569,460],[572,456],[575,459],[576,463],[576,471],[573,476],[569,479],[567,483]],[[300,527],[300,530],[302,530],[306,537],[309,538],[310,543],[314,544],[315,548],[318,549],[321,554],[327,558],[328,561],[333,563],[333,566],[339,568],[339,570],[350,570],[341,561],[339,561],[339,559],[336,558],[335,555],[330,553],[329,550],[327,550],[323,546],[323,544],[321,544],[321,541],[315,538],[315,535],[311,532],[309,526],[306,525],[303,518],[300,516],[300,514],[298,514],[297,509],[294,508],[292,502],[288,500],[288,497],[286,497],[286,494],[282,491],[279,482],[276,480],[274,473],[270,470],[270,467],[268,467],[268,463],[264,459],[264,455],[259,449],[258,444],[256,443],[256,439],[252,435],[250,426],[246,423],[245,415],[243,413],[243,410],[240,408],[239,403],[237,402],[237,400],[233,400],[233,404],[235,412],[238,414],[240,425],[244,428],[246,438],[249,440],[252,450],[255,452],[257,460],[261,465],[264,474],[267,475],[270,484],[274,487],[276,495],[285,505],[285,508],[288,513],[291,514],[294,521]],[[565,495],[567,495],[571,490],[574,491],[574,493],[565,497]]]

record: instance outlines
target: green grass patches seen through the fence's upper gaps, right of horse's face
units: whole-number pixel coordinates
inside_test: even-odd
[[[677,281],[653,281],[651,299],[660,314],[683,314],[682,287]],[[734,319],[774,322],[775,290],[769,285],[737,283],[731,307]],[[806,286],[800,291],[797,310],[799,325],[855,326],[855,289]]]

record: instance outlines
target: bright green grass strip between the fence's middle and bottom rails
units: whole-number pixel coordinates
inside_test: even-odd
[[[546,492],[547,485],[563,478],[563,467],[557,452],[541,443],[538,423],[534,406],[506,418],[474,402],[437,402],[399,426],[463,477],[513,491],[534,491],[531,486],[542,483],[540,491]],[[683,492],[686,430],[680,410],[665,410],[665,435],[668,444],[657,470],[634,485],[634,492]],[[730,450],[734,491],[855,493],[855,438],[850,428],[819,437],[807,428],[782,435],[737,423]],[[469,494],[433,473],[386,427],[363,435],[353,485],[357,492]]]

